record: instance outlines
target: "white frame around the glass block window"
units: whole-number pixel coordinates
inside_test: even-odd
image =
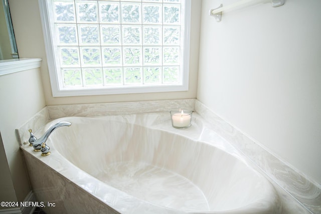
[[[183,1],[183,0],[182,0]],[[47,63],[50,75],[50,82],[52,88],[53,97],[65,97],[65,96],[84,96],[84,95],[107,95],[107,94],[131,94],[131,93],[149,93],[149,92],[173,92],[173,91],[188,91],[189,88],[189,61],[190,61],[190,28],[191,28],[191,1],[185,0],[185,26],[184,26],[184,41],[183,41],[183,72],[182,82],[179,84],[170,85],[157,85],[157,86],[130,86],[122,85],[118,87],[110,88],[62,88],[59,86],[59,81],[61,77],[58,75],[56,59],[55,59],[55,46],[54,46],[54,36],[52,35],[52,29],[49,22],[49,17],[53,16],[52,10],[49,9],[50,4],[47,0],[38,0],[43,34],[46,47]],[[182,57],[182,56],[181,56]]]

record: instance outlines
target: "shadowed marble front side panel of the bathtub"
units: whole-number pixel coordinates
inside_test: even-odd
[[[84,189],[76,186],[61,174],[48,168],[48,165],[39,161],[32,155],[24,155],[28,166],[29,177],[34,193],[44,201],[46,207],[42,207],[47,214],[55,213],[119,213],[105,204],[98,202]],[[39,174],[39,171],[42,174]],[[38,173],[37,173],[38,172]],[[37,200],[39,201],[39,200]],[[47,201],[55,203],[54,207],[47,206]],[[86,201],[86,203],[84,203]]]

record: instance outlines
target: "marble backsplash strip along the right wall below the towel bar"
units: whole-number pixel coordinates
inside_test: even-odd
[[[253,141],[240,130],[211,112],[196,100],[195,111],[210,123],[211,128],[243,152],[274,183],[301,203],[310,213],[321,213],[321,187],[311,182],[300,172],[278,159],[258,142]]]

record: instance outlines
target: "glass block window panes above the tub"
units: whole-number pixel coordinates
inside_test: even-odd
[[[39,1],[47,12],[43,25],[50,28],[45,40],[46,34],[51,40],[45,42],[52,49],[48,61],[52,59],[55,72],[50,71],[51,82],[57,81],[53,92],[148,92],[150,87],[166,91],[166,86],[187,90],[190,1]]]

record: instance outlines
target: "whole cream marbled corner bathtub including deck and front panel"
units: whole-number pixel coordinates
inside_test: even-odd
[[[279,213],[278,195],[253,163],[207,128],[175,129],[169,113],[65,117],[51,155],[23,155],[47,213]],[[54,206],[53,206],[54,204]]]

